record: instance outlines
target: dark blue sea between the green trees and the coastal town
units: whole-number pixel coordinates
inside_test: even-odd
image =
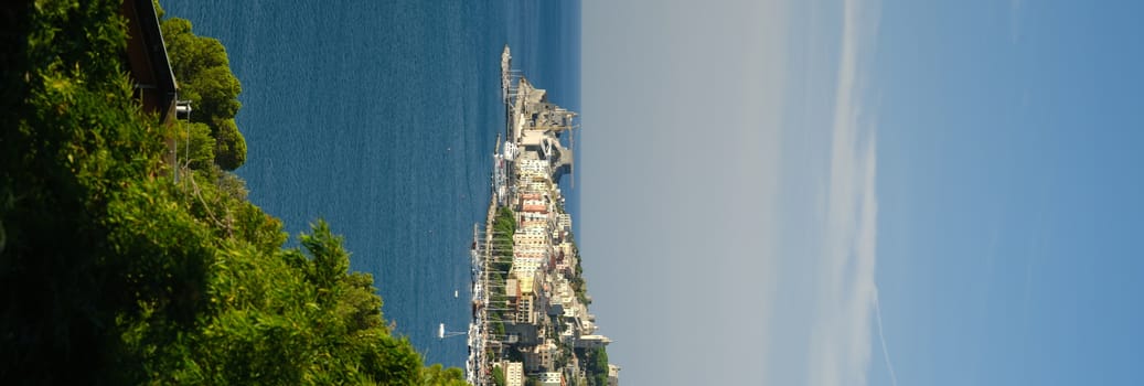
[[[428,363],[463,367],[472,224],[505,127],[500,54],[580,110],[579,1],[162,1],[243,83],[249,198],[294,236],[325,218]],[[579,138],[578,138],[579,140]],[[579,153],[579,150],[577,151]],[[569,210],[579,195],[562,185]],[[460,291],[460,298],[453,291]]]

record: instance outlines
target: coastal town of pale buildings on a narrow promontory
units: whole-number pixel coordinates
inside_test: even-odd
[[[501,55],[507,124],[494,151],[492,199],[474,225],[472,322],[466,378],[477,386],[618,385],[612,341],[597,333],[562,176],[572,172],[575,112],[548,99]],[[444,325],[440,332],[445,336]]]

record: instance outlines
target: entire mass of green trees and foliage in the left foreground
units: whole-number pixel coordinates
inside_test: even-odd
[[[0,384],[467,384],[329,225],[287,248],[247,200],[217,40],[152,0],[0,11]]]

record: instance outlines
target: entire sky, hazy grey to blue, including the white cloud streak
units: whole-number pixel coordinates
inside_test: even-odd
[[[1138,15],[585,3],[579,239],[621,379],[1144,384]]]

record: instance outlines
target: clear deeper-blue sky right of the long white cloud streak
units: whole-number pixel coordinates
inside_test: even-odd
[[[1142,10],[883,2],[877,281],[899,380],[1144,383]]]

